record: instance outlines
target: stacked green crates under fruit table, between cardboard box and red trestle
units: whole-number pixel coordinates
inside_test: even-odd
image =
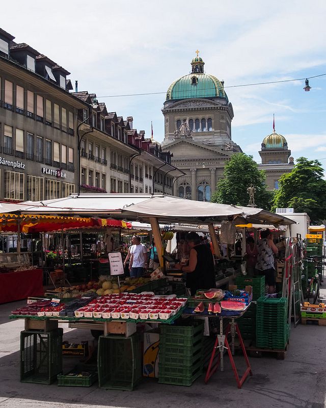
[[[180,319],[162,324],[159,337],[158,382],[191,386],[203,371],[204,321]]]

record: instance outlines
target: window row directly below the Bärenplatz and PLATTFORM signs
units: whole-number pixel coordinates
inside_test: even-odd
[[[4,198],[41,201],[66,197],[75,191],[74,184],[35,175],[5,171]],[[25,191],[26,182],[26,191]],[[27,196],[25,197],[25,193]]]

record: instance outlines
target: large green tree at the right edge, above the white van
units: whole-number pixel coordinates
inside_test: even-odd
[[[273,209],[294,208],[296,213],[308,213],[311,222],[320,222],[326,214],[326,181],[323,176],[318,160],[298,158],[293,170],[280,179]]]

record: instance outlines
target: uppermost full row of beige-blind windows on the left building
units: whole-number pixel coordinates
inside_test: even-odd
[[[0,78],[0,87],[5,88],[3,107],[16,113],[26,115],[47,125],[69,132],[73,135],[74,121],[73,113],[51,100],[32,91],[25,90],[19,85],[14,85],[11,81]],[[0,95],[1,98],[1,95]]]

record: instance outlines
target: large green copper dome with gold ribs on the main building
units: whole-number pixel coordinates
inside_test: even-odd
[[[192,72],[170,85],[166,100],[216,97],[225,98],[228,101],[221,81],[213,75]]]

